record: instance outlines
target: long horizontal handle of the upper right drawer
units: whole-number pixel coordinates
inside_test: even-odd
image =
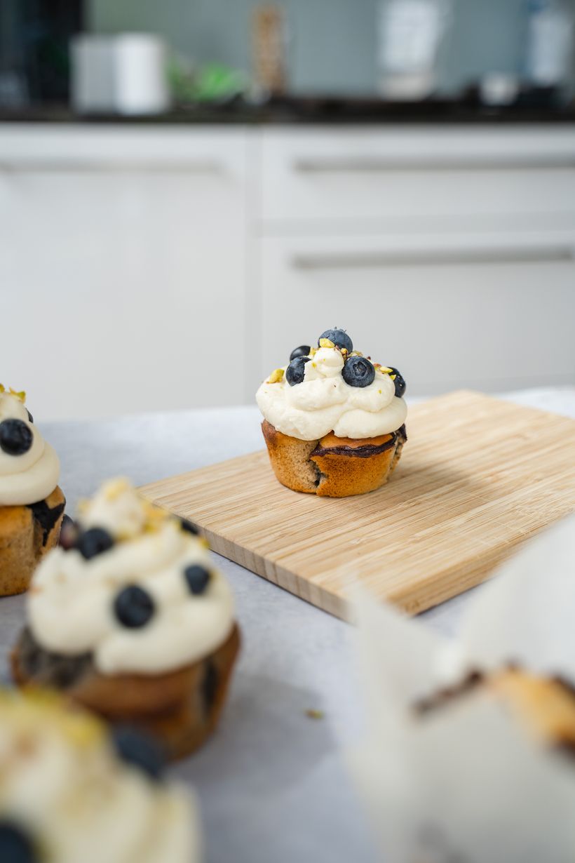
[[[536,169],[569,170],[575,167],[575,155],[570,156],[478,156],[461,155],[428,156],[423,159],[389,158],[341,158],[341,159],[297,159],[293,169],[298,173],[366,173],[378,171],[524,171]]]

